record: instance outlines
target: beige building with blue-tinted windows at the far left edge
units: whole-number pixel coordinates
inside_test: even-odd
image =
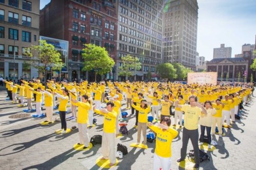
[[[38,77],[25,55],[25,48],[38,45],[38,39],[39,0],[0,1],[0,76],[14,80]]]

